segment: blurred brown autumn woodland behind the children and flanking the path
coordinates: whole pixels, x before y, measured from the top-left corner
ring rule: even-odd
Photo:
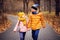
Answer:
[[[44,13],[46,21],[59,33],[60,0],[0,0],[0,29],[6,28],[8,26],[7,23],[10,25],[6,14],[17,14],[19,11],[29,14],[31,6],[35,3],[40,4],[38,7],[39,11]]]

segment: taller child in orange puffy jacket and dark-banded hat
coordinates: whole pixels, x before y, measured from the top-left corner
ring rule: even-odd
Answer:
[[[29,15],[28,28],[32,29],[32,38],[37,40],[39,29],[42,27],[45,28],[45,20],[42,13],[37,12],[38,4],[35,4],[31,7],[32,13]]]

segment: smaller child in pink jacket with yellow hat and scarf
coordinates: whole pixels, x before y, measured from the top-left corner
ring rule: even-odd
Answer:
[[[20,34],[20,40],[25,39],[25,34],[27,31],[27,17],[24,14],[24,12],[19,12],[18,13],[18,22],[16,24],[16,27],[14,28],[14,32],[17,31],[17,28],[19,29],[19,34]]]

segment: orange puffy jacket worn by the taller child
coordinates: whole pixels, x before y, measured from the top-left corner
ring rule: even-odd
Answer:
[[[30,14],[28,28],[31,28],[32,30],[37,30],[42,27],[45,27],[45,20],[42,13]]]

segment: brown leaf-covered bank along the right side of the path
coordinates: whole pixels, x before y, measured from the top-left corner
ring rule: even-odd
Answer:
[[[55,16],[55,12],[51,13],[44,13],[44,17],[46,18],[46,21],[49,25],[52,26],[54,31],[58,34],[60,34],[60,16]]]

